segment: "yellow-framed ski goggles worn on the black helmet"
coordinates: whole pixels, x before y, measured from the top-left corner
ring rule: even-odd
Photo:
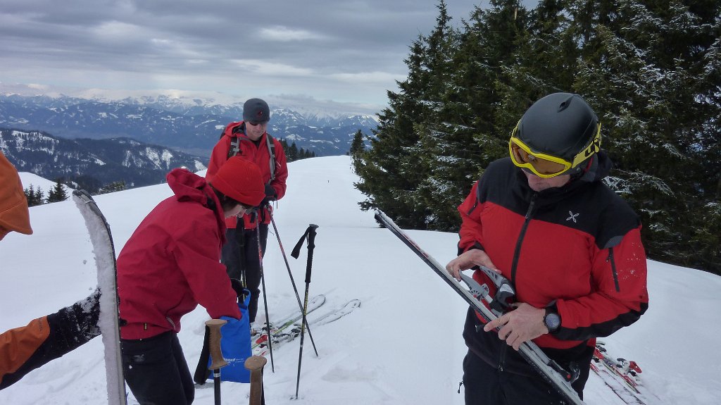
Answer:
[[[508,141],[510,159],[516,166],[528,169],[538,177],[547,179],[564,174],[570,169],[582,164],[583,161],[588,159],[593,153],[601,151],[601,123],[598,123],[598,129],[596,130],[596,135],[593,136],[593,140],[590,141],[588,146],[583,148],[583,151],[580,151],[580,153],[573,158],[573,161],[567,161],[566,159],[552,156],[548,153],[532,151],[526,143],[523,143],[523,141],[516,137],[518,125],[520,124],[521,122],[519,121],[518,124],[516,124],[516,128],[513,128],[513,133],[510,134],[510,141]]]

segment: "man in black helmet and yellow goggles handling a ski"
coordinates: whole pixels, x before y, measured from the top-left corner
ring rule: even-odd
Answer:
[[[459,257],[446,265],[456,278],[490,267],[516,287],[513,311],[488,324],[469,310],[466,404],[563,403],[518,354],[529,340],[580,370],[572,386],[583,399],[596,337],[648,307],[641,223],[602,182],[611,162],[601,151],[601,124],[577,94],[531,105],[508,147],[510,157],[492,162],[459,205]],[[492,285],[479,270],[473,277]]]

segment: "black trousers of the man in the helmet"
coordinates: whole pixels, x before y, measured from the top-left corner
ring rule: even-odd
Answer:
[[[500,371],[470,350],[463,360],[463,386],[466,405],[567,405],[540,375]]]

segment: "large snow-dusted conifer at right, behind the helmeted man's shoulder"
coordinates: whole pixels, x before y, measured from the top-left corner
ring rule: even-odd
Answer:
[[[694,218],[708,212],[706,190],[718,178],[704,177],[718,108],[699,102],[709,83],[698,78],[718,37],[709,27],[720,6],[686,4],[616,1],[613,14],[593,13],[590,24],[578,19],[572,27],[582,44],[575,89],[600,115],[602,145],[616,164],[609,182],[640,213],[650,257],[678,264],[697,256],[684,241]],[[575,1],[571,14],[589,7]]]

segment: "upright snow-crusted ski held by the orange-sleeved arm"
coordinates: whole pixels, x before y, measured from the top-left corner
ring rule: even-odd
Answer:
[[[105,345],[107,400],[110,405],[126,405],[123,361],[120,357],[120,316],[118,313],[118,273],[115,267],[115,246],[110,225],[95,200],[84,190],[75,190],[73,200],[85,220],[95,254],[97,281],[100,287],[100,319],[98,326]]]

